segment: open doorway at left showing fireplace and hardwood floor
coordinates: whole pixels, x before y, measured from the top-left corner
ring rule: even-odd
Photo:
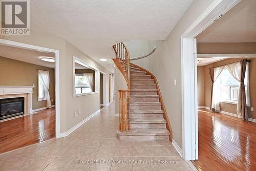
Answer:
[[[0,153],[55,138],[55,53],[2,44],[0,73]]]

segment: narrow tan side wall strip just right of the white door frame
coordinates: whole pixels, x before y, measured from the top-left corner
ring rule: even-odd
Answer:
[[[204,106],[204,67],[197,67],[198,106]]]

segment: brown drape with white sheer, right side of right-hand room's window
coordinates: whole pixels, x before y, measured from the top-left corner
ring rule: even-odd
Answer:
[[[247,60],[242,59],[240,62],[232,63],[227,65],[229,73],[233,76],[234,79],[240,82],[239,93],[238,93],[238,105],[237,113],[242,116],[242,119],[248,119],[248,111],[246,104],[246,95],[245,95],[245,86],[244,78],[246,73]]]

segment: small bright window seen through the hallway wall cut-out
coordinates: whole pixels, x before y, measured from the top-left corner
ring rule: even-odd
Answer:
[[[93,77],[92,73],[89,74],[91,75],[89,77]],[[92,92],[90,84],[86,78],[89,74],[75,74],[75,94]]]

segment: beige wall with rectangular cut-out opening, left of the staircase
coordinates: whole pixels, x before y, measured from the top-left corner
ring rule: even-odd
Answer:
[[[109,75],[109,71],[96,61],[79,51],[62,38],[30,32],[29,36],[0,36],[0,38],[23,42],[25,44],[59,50],[60,67],[60,132],[66,132],[77,123],[99,110],[99,93],[73,97],[73,55],[84,60]],[[109,77],[106,78],[107,96],[109,96]],[[81,115],[74,117],[74,112],[81,110]]]

